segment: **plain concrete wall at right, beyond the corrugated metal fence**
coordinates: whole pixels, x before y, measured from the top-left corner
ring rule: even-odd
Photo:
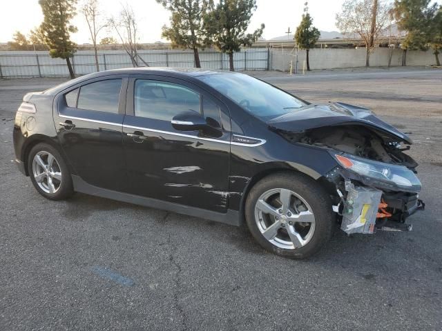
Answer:
[[[302,70],[302,62],[305,60],[305,50],[298,54],[298,70]],[[396,49],[392,55],[392,66],[401,66],[403,50]],[[310,50],[311,69],[333,69],[333,68],[357,68],[365,66],[365,48],[359,49],[334,49],[314,48]],[[442,59],[441,59],[442,60]],[[295,66],[296,57],[294,53],[287,50],[272,49],[270,54],[271,70],[288,71],[289,63],[293,61]],[[407,66],[430,66],[436,63],[431,50],[422,52],[411,50],[407,52]],[[388,48],[377,48],[370,54],[370,66],[381,67],[388,65]]]

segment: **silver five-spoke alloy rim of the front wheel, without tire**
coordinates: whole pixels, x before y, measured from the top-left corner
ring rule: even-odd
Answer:
[[[284,188],[261,194],[255,205],[255,221],[267,241],[286,250],[307,245],[315,231],[314,213],[307,201]]]

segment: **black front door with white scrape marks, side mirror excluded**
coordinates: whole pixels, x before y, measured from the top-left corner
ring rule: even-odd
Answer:
[[[185,110],[201,112],[213,132],[183,132],[171,125]],[[230,134],[228,110],[187,81],[140,76],[129,81],[123,146],[126,192],[216,212],[227,211]]]

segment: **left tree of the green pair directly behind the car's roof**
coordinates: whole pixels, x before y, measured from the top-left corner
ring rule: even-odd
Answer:
[[[203,17],[213,8],[213,0],[157,0],[172,12],[171,26],[163,26],[162,37],[172,48],[193,50],[195,67],[201,68],[198,48],[204,47]]]

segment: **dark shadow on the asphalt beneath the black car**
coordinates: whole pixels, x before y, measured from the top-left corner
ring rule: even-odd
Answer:
[[[166,212],[164,210],[157,210],[155,208],[147,208],[131,203],[124,203],[104,199],[100,197],[93,197],[87,194],[76,193],[74,197],[65,201],[65,206],[62,208],[61,214],[68,221],[86,220],[91,214],[97,212],[113,212],[116,210],[130,210],[130,212],[140,212],[150,214],[148,220],[143,222],[154,222],[156,225],[165,225],[167,222],[172,222],[179,225],[180,229],[188,232],[189,236],[192,234],[210,237],[213,241],[221,241],[228,245],[233,245],[236,249],[249,256],[265,256],[266,260],[289,261],[285,258],[278,257],[266,250],[262,249],[251,236],[247,225],[242,224],[240,227],[227,225],[208,221],[196,217],[189,217],[186,215],[175,214],[173,212]],[[155,211],[155,212],[153,212]],[[372,235],[352,235],[348,237],[344,232],[336,228],[332,235],[332,239],[325,244],[320,252],[305,261],[298,261],[298,263],[324,263],[327,261],[334,261],[342,265],[358,265],[361,263],[361,257],[370,257],[376,254],[379,259],[383,259],[383,254],[388,254],[384,259],[390,259],[393,248],[398,249],[398,245],[404,245],[400,251],[407,250],[406,243],[410,243],[413,239],[407,237],[405,232],[377,232]],[[152,230],[152,229],[150,229]],[[213,235],[213,234],[216,235]],[[192,240],[189,237],[189,240]],[[390,249],[389,249],[390,247]]]

